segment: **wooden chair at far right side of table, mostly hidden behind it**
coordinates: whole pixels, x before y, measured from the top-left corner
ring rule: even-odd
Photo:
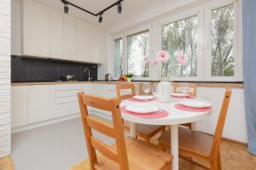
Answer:
[[[183,93],[181,92],[178,88],[181,88],[184,86],[184,83],[183,82],[173,82],[173,93]],[[196,90],[197,90],[197,85],[196,83],[191,83],[191,82],[188,82],[186,83],[186,87],[189,87],[190,89],[192,89],[192,91],[189,91],[189,95],[190,96],[194,96],[196,97]],[[189,127],[189,129],[191,129],[192,127],[192,124],[191,123],[184,123],[182,124],[182,126],[184,127]]]

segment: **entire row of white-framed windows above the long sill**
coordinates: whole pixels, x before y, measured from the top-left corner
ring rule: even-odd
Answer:
[[[115,75],[121,74],[122,65],[123,73],[133,73],[137,80],[159,80],[144,56],[153,59],[163,49],[170,60],[162,76],[172,81],[239,82],[241,33],[241,0],[201,3],[114,39]]]

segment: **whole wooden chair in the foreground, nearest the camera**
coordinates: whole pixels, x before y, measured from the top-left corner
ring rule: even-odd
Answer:
[[[162,170],[171,168],[172,156],[170,154],[156,146],[146,144],[142,140],[130,137],[125,139],[119,99],[106,99],[83,92],[79,93],[78,97],[91,170]],[[112,114],[113,124],[89,116],[87,106],[109,111]],[[111,146],[97,139],[93,136],[91,128],[115,139],[116,144]],[[100,154],[96,154],[96,150]],[[85,170],[84,162],[71,169]]]

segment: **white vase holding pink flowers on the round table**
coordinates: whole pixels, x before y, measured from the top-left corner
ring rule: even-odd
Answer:
[[[159,101],[168,103],[171,102],[172,94],[172,83],[171,82],[160,82],[158,85],[159,90]]]

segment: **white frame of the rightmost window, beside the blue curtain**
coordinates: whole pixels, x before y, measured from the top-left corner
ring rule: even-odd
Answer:
[[[212,10],[216,8],[221,8],[234,3],[235,7],[235,42],[234,42],[234,59],[235,59],[235,70],[233,77],[212,77],[212,46],[211,46],[211,29],[212,29]],[[204,81],[206,82],[241,82],[242,78],[242,23],[241,23],[241,1],[238,0],[218,0],[207,3],[205,5],[204,14],[204,42],[206,45],[204,51]]]

